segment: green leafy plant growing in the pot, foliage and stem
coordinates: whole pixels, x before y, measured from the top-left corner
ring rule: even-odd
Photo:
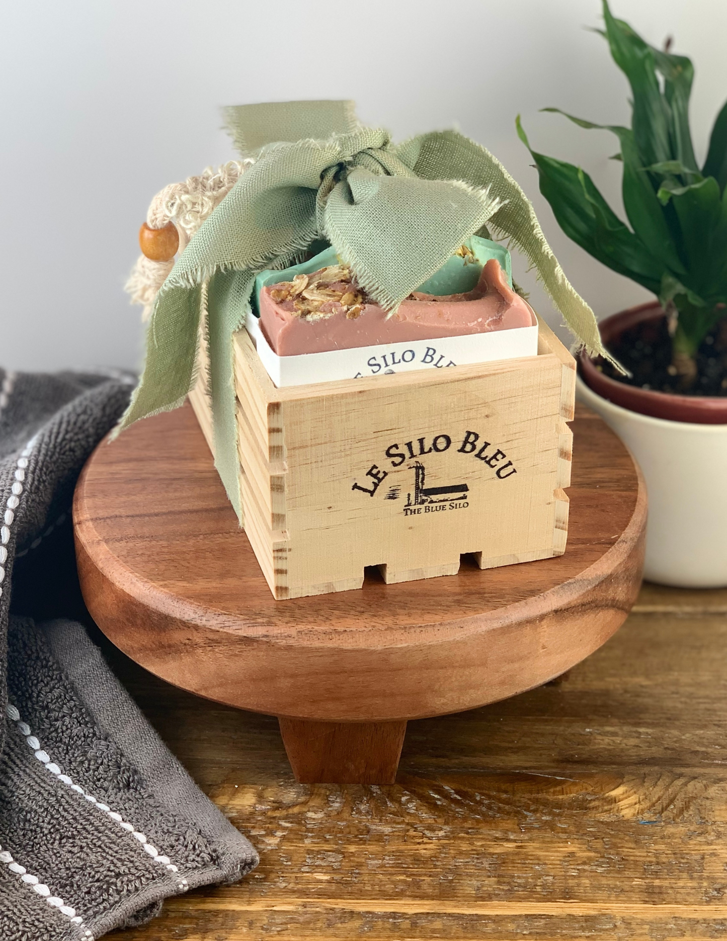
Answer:
[[[604,0],[611,56],[633,94],[631,127],[594,124],[554,111],[580,127],[619,138],[614,159],[623,165],[622,196],[629,226],[611,210],[580,167],[530,148],[541,193],[565,233],[603,262],[653,291],[667,313],[672,362],[686,384],[696,377],[695,354],[706,334],[727,314],[727,104],[698,167],[689,132],[688,104],[694,69],[644,42]]]

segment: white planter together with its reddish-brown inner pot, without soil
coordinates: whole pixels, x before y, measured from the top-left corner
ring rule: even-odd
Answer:
[[[599,324],[606,343],[664,316],[642,304]],[[577,396],[637,459],[649,521],[644,578],[683,588],[727,586],[727,398],[670,395],[609,378],[582,356]]]

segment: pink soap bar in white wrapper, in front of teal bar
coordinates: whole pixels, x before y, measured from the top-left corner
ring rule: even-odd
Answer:
[[[272,284],[260,292],[260,327],[278,356],[437,340],[537,324],[525,300],[509,287],[496,259],[484,265],[477,286],[467,294],[414,293],[388,318],[378,304],[365,298],[352,310],[333,300],[323,303],[313,314],[300,315],[294,300],[275,300],[271,296],[276,289],[280,295],[280,287]],[[331,284],[331,288],[346,291],[347,285]],[[350,290],[361,293],[355,286]]]

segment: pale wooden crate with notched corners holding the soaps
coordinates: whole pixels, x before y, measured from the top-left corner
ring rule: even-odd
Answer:
[[[275,598],[565,550],[575,362],[542,321],[535,357],[285,389],[233,342],[244,526]]]

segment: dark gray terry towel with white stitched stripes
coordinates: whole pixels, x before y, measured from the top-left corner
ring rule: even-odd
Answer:
[[[73,486],[132,382],[0,370],[2,941],[91,941],[257,863],[64,619]]]

